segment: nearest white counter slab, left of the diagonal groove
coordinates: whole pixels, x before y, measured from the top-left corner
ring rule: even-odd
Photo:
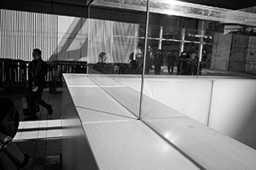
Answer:
[[[99,169],[198,169],[142,122],[84,123]]]

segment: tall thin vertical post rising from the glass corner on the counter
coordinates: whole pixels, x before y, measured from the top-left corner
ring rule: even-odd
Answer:
[[[142,113],[143,113],[143,88],[144,88],[144,72],[145,72],[145,66],[146,66],[147,41],[148,41],[148,16],[149,16],[149,0],[147,2],[146,31],[145,31],[145,42],[144,42],[144,54],[143,54],[143,73],[142,73],[142,86],[141,86],[138,120],[142,120]]]

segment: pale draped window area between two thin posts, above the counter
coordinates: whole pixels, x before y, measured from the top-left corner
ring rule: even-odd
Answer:
[[[89,27],[89,73],[140,73],[139,66],[142,65],[142,63],[135,64],[133,62],[133,60],[139,56],[139,54],[137,54],[137,47],[140,46],[137,37],[139,28],[137,24],[90,19]],[[143,56],[141,56],[141,60],[142,59]],[[132,69],[136,67],[136,71],[130,71],[131,65]]]

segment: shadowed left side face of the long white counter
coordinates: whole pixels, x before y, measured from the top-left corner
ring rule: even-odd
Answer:
[[[67,89],[67,82],[64,82],[62,92],[62,115],[64,118],[62,126],[66,127],[62,133],[67,136],[62,144],[62,168],[63,170],[79,170],[86,167],[86,169],[97,170],[98,168],[84,136],[78,111]],[[80,93],[80,95],[83,94]]]

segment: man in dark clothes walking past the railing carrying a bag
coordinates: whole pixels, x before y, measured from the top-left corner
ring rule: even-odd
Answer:
[[[47,74],[48,65],[42,59],[41,54],[42,52],[40,49],[33,49],[33,60],[28,68],[28,95],[30,105],[30,116],[26,117],[25,120],[34,120],[37,118],[37,103],[39,105],[43,105],[44,108],[47,109],[49,116],[51,116],[53,112],[51,105],[48,105],[42,99],[43,90],[45,88],[44,77]]]

